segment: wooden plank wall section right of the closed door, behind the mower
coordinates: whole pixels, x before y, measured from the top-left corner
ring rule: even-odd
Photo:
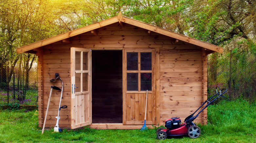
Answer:
[[[202,50],[173,44],[160,48],[160,124],[192,114],[202,103]],[[202,67],[203,66],[203,67]],[[206,97],[207,98],[207,97]],[[202,123],[202,114],[195,120]]]

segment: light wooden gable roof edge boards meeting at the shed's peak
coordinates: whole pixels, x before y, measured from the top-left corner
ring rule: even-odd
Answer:
[[[122,16],[121,12],[119,12],[119,14],[117,16],[109,18],[107,20],[100,21],[95,24],[87,25],[87,26],[84,26],[84,27],[81,27],[81,28],[78,28],[78,29],[54,36],[54,37],[51,37],[51,38],[48,38],[45,40],[37,41],[32,44],[17,48],[17,53],[18,54],[23,53],[23,52],[30,53],[31,50],[34,50],[36,48],[46,46],[46,45],[52,44],[54,42],[58,42],[58,41],[61,41],[61,40],[64,40],[64,39],[67,39],[70,37],[74,37],[74,36],[77,36],[77,35],[80,35],[80,34],[83,34],[83,33],[86,33],[86,32],[89,32],[89,31],[92,31],[92,30],[95,30],[95,29],[98,29],[98,28],[101,28],[104,26],[118,23],[118,22],[120,24],[122,24],[122,23],[131,24],[131,25],[134,25],[134,26],[137,26],[140,28],[144,28],[144,29],[177,39],[177,40],[185,41],[185,42],[200,46],[205,49],[209,49],[211,52],[207,52],[208,54],[213,53],[213,52],[219,52],[219,53],[223,52],[222,47],[219,47],[219,46],[216,46],[216,45],[213,45],[213,44],[201,41],[201,40],[197,40],[197,39],[194,39],[194,38],[191,38],[191,37],[179,34],[179,33],[175,33],[175,32],[172,32],[172,31],[169,31],[169,30],[166,30],[166,29],[163,29],[163,28],[151,25],[151,24],[147,24],[147,23],[144,23],[144,22],[132,19],[132,18]]]

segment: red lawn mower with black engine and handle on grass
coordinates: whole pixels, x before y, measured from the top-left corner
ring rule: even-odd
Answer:
[[[224,91],[224,92],[223,92]],[[224,97],[223,94],[227,92],[227,89],[222,89],[218,92],[218,88],[216,87],[216,94],[212,96],[210,99],[206,100],[193,114],[189,115],[185,120],[184,123],[181,124],[181,119],[179,117],[174,117],[171,119],[165,120],[165,127],[166,129],[159,128],[157,129],[157,138],[158,139],[165,139],[168,136],[178,136],[178,135],[188,135],[190,138],[197,138],[201,135],[200,128],[193,123],[193,121],[199,116],[199,114],[208,107],[212,102],[214,102],[219,97]],[[222,93],[223,92],[223,93]],[[217,97],[216,97],[217,96]],[[216,97],[215,99],[211,100],[212,98]],[[211,101],[210,101],[211,100]],[[198,112],[196,116],[194,114],[207,102],[207,105],[203,107],[201,111]]]

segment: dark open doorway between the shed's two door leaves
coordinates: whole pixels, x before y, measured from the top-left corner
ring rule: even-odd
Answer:
[[[122,51],[92,51],[92,123],[122,123]]]

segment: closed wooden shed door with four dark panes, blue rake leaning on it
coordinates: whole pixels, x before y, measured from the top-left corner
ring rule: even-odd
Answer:
[[[123,50],[123,124],[155,124],[155,49]]]

